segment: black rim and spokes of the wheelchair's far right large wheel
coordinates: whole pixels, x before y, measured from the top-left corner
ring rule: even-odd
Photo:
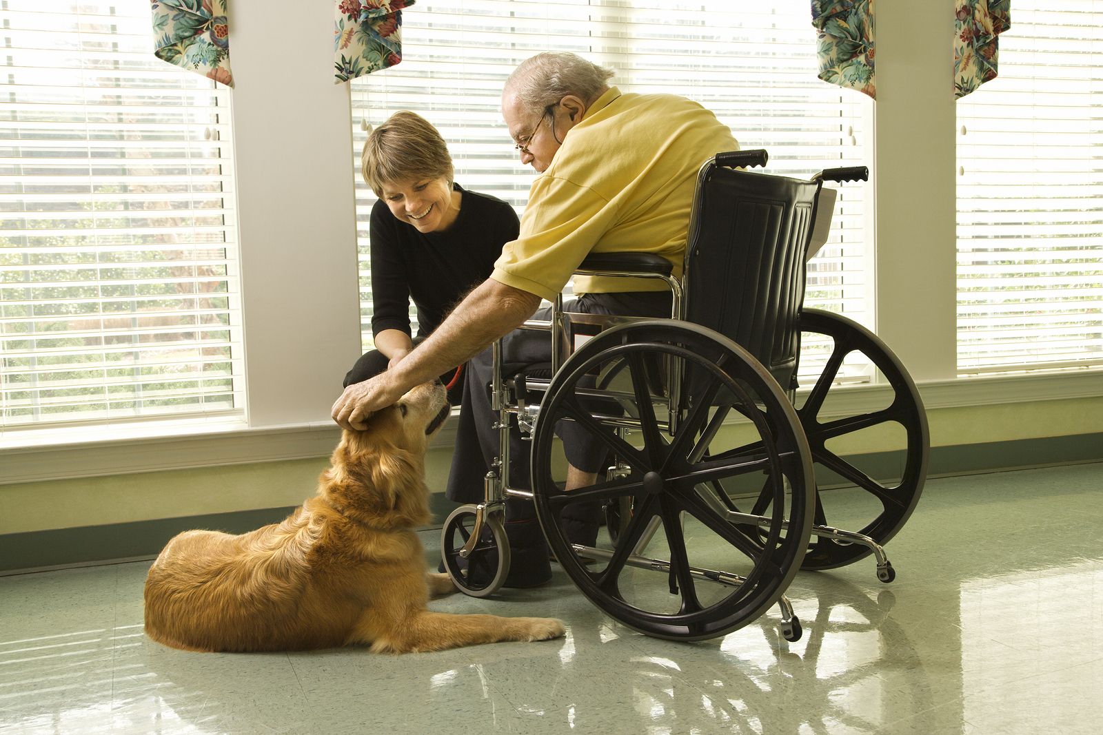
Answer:
[[[854,482],[855,485],[874,495],[881,501],[881,512],[870,520],[858,532],[870,537],[878,544],[887,543],[907,522],[923,490],[927,478],[927,464],[930,457],[930,434],[927,425],[927,413],[914,381],[903,367],[900,359],[889,349],[877,335],[857,322],[833,312],[817,309],[805,309],[801,312],[801,332],[823,334],[834,341],[832,355],[824,371],[797,409],[804,435],[812,450],[814,464],[827,467]],[[859,352],[880,370],[888,385],[892,388],[893,398],[888,408],[872,413],[834,419],[824,423],[816,414],[829,394],[832,385],[843,359],[852,352]],[[882,419],[884,421],[880,421]],[[848,424],[853,431],[860,431],[869,425],[882,422],[896,422],[907,432],[908,446],[901,479],[893,486],[887,486],[869,478],[857,467],[838,457],[825,447],[828,439],[845,436],[849,431],[840,431]],[[842,469],[843,472],[838,472]],[[816,495],[817,525],[827,525],[820,494]],[[865,545],[840,544],[834,539],[818,537],[804,558],[802,569],[827,570],[852,564],[865,559],[872,551]],[[891,568],[890,568],[891,570]],[[890,572],[895,576],[895,572]],[[879,575],[881,581],[885,576]]]

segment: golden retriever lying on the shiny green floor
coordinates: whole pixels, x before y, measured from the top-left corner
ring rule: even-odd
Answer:
[[[426,608],[430,594],[456,592],[426,570],[414,531],[429,520],[425,452],[447,417],[440,381],[419,386],[344,432],[318,495],[283,522],[173,538],[146,579],[146,634],[193,651],[389,652],[564,635],[552,618]]]

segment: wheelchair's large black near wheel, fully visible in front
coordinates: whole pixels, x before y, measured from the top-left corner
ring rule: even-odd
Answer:
[[[672,392],[683,407],[673,431]],[[566,491],[564,445],[603,446],[607,462],[631,472]],[[532,472],[563,569],[598,607],[650,636],[713,638],[757,619],[807,548],[815,490],[793,407],[746,350],[686,322],[624,324],[571,355],[542,403]],[[763,477],[772,504],[760,522],[718,497],[758,493]],[[557,522],[565,507],[620,498],[632,504],[615,542],[569,543]]]

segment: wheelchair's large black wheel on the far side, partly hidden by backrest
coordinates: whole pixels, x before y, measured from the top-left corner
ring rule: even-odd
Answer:
[[[823,485],[853,484],[856,490],[824,490],[817,494],[817,525],[864,533],[886,543],[911,516],[927,478],[930,437],[927,412],[911,376],[877,335],[860,324],[813,309],[801,314],[802,343],[824,344],[829,350],[824,368],[812,389],[799,401],[797,414],[816,465],[816,480]],[[825,341],[824,337],[829,339]],[[844,364],[872,366],[885,376],[889,390],[868,409],[837,415],[832,409],[832,389],[838,386]],[[804,380],[802,380],[804,382]],[[822,419],[826,415],[826,419]],[[890,437],[904,446],[902,461],[878,465],[877,458],[843,458],[840,454],[861,432],[872,440]],[[865,463],[865,464],[864,464]],[[888,479],[886,479],[888,478]],[[816,538],[804,556],[804,569],[823,570],[850,564],[871,553],[868,547]]]

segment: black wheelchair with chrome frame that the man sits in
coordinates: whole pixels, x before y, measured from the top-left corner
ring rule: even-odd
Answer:
[[[461,591],[484,597],[505,580],[507,496],[534,502],[548,547],[583,595],[658,638],[722,636],[778,605],[782,636],[799,640],[784,593],[800,570],[872,554],[878,579],[895,579],[884,545],[923,488],[922,401],[874,333],[803,307],[821,187],[866,181],[868,171],[829,169],[803,181],[748,170],[767,160],[762,150],[736,151],[702,166],[681,277],[645,253],[591,253],[576,271],[662,279],[672,291],[670,320],[565,313],[560,296],[550,321],[524,325],[550,333],[550,366],[503,376],[502,343],[493,345],[501,454],[485,499],[454,510],[441,532],[445,568]],[[799,392],[802,339],[826,357]],[[844,364],[879,372],[887,403],[858,415],[825,408],[845,391]],[[511,487],[514,425],[532,442],[532,490]],[[564,426],[607,450],[608,471],[591,485],[565,487],[556,437]],[[843,456],[847,437],[890,426],[906,451],[889,480]],[[827,525],[826,500],[840,490],[817,489],[817,476],[850,488],[858,501],[844,516],[859,530]],[[593,547],[571,543],[559,523],[580,502],[603,507],[606,532]]]

